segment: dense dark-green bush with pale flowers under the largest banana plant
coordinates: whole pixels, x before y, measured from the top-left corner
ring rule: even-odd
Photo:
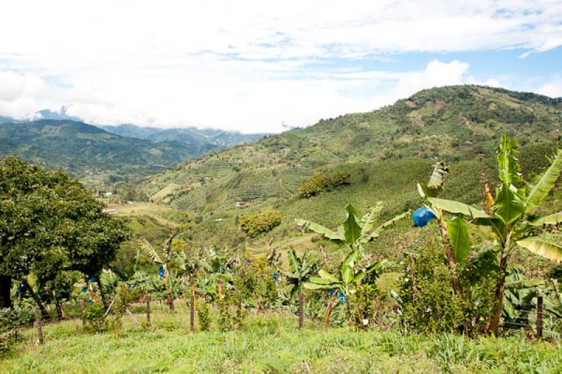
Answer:
[[[485,251],[457,267],[461,297],[452,288],[453,273],[442,247],[425,247],[410,254],[400,292],[405,325],[425,333],[480,332],[493,305],[495,261]]]

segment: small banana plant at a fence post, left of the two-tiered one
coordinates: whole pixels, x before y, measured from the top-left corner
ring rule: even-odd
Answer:
[[[294,299],[295,294],[299,297],[299,328],[303,328],[304,299],[301,286],[318,271],[318,261],[311,258],[310,252],[304,252],[302,257],[299,257],[290,245],[287,257],[289,257],[289,271],[284,273],[288,282],[293,285],[291,298]]]

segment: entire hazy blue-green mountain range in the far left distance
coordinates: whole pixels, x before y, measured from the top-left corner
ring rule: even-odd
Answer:
[[[41,110],[42,120],[0,117],[0,158],[18,155],[64,169],[89,186],[137,179],[259,134],[221,130],[155,129],[124,124],[96,127],[60,112]]]

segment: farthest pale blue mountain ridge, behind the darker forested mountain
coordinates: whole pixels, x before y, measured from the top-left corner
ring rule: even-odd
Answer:
[[[197,129],[185,127],[181,129],[157,129],[155,127],[139,127],[134,124],[120,124],[119,126],[102,126],[105,131],[131,138],[141,138],[162,143],[177,141],[187,145],[197,153],[205,153],[216,148],[236,146],[237,144],[254,141],[266,134],[242,134],[238,131],[223,131],[218,129]]]

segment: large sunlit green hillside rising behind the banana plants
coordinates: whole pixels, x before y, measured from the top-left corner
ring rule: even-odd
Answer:
[[[384,200],[386,217],[417,207],[415,184],[427,179],[433,157],[451,164],[445,194],[478,203],[481,172],[494,180],[491,156],[502,133],[518,139],[522,161],[536,169],[556,146],[551,142],[561,139],[561,127],[561,99],[450,86],[421,91],[373,112],[320,120],[306,129],[216,151],[153,176],[139,188],[155,202],[200,216],[200,224],[185,238],[261,247],[271,239],[298,236],[292,223],[296,217],[336,226],[347,202],[365,212]],[[303,181],[335,170],[349,172],[351,185],[299,198]],[[247,207],[237,207],[237,202]],[[266,207],[282,212],[282,224],[248,241],[237,230],[237,219]],[[410,226],[405,222],[399,231]]]

